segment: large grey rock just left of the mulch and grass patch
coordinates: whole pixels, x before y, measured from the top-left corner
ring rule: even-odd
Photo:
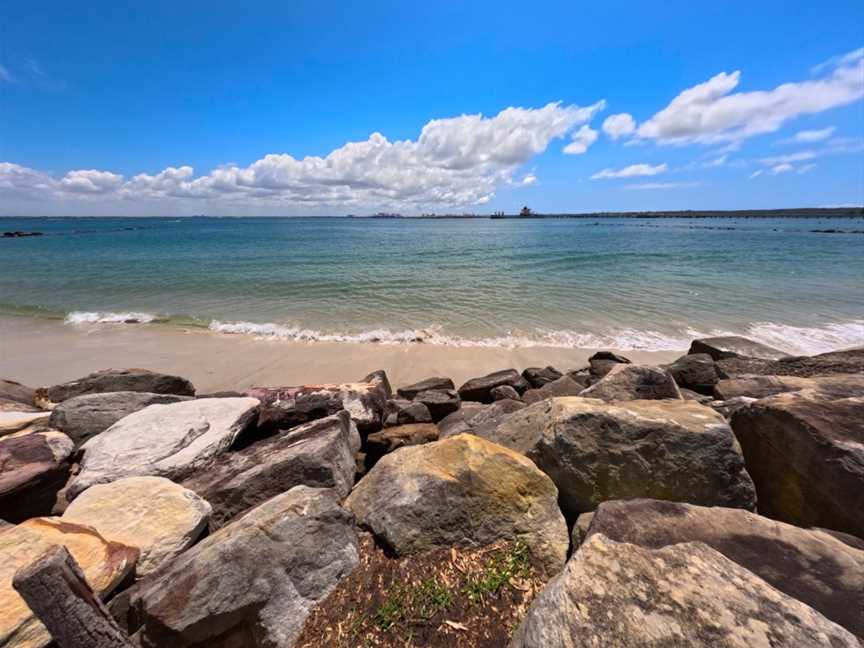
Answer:
[[[351,515],[330,491],[296,486],[143,581],[127,621],[151,648],[293,646],[357,557]]]

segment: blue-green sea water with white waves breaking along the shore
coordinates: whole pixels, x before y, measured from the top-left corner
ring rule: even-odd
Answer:
[[[841,230],[842,233],[813,230]],[[864,344],[861,219],[0,219],[0,315],[302,340]],[[858,233],[852,233],[857,231]]]

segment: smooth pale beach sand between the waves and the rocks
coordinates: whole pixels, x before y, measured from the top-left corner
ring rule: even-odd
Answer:
[[[499,369],[587,364],[597,349],[465,348],[428,344],[296,342],[218,334],[167,325],[67,325],[0,318],[0,377],[32,387],[73,380],[99,369],[139,367],[190,379],[198,393],[359,380],[385,369],[394,388],[429,376],[457,386]],[[614,349],[612,349],[614,350]],[[679,351],[621,351],[656,364]]]

